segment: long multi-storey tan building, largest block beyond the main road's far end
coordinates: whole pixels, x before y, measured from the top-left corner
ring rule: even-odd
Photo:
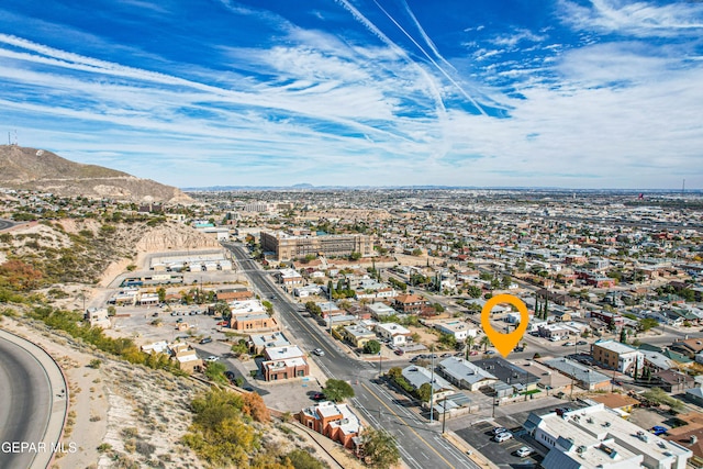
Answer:
[[[359,253],[361,257],[368,257],[373,254],[371,237],[361,234],[297,236],[283,232],[261,232],[261,248],[265,253],[271,253],[278,261],[308,255],[348,256]]]

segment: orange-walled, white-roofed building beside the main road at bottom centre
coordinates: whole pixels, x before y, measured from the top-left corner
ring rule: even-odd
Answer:
[[[345,448],[354,449],[361,434],[361,421],[347,404],[320,402],[298,414],[301,424],[327,438],[338,442]]]

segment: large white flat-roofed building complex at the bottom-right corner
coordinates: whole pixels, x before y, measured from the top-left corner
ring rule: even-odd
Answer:
[[[538,416],[525,429],[549,453],[545,469],[685,469],[691,450],[620,417],[603,404]]]

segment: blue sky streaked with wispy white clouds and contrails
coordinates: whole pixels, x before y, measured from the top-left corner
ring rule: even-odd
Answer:
[[[3,0],[0,122],[178,187],[703,188],[703,1]]]

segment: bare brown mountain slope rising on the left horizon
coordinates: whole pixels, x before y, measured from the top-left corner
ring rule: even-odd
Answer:
[[[57,196],[105,197],[133,202],[192,202],[180,189],[96,165],[69,161],[44,149],[0,145],[0,187]]]

